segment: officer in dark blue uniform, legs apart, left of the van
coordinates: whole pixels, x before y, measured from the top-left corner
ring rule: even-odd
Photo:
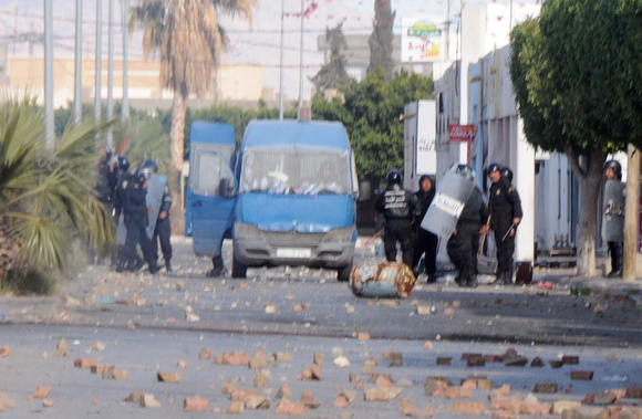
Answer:
[[[126,176],[123,176],[126,175]],[[118,197],[122,201],[122,211],[125,219],[127,235],[125,244],[118,252],[117,272],[133,270],[132,265],[136,259],[136,245],[141,244],[143,256],[149,265],[149,272],[159,270],[156,263],[156,254],[152,249],[152,243],[147,237],[147,190],[144,188],[145,176],[124,172],[121,175]]]

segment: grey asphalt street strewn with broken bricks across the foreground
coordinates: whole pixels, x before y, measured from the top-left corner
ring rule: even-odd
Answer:
[[[283,385],[292,386],[293,401],[303,390],[312,390],[321,405],[303,416],[320,418],[402,417],[407,404],[429,407],[434,417],[466,417],[454,406],[462,400],[480,401],[484,413],[490,415],[487,390],[473,390],[469,398],[428,397],[423,387],[427,377],[447,378],[453,386],[468,376],[487,377],[495,389],[510,385],[510,397],[521,399],[537,383],[557,384],[557,392],[536,395],[540,402],[579,401],[588,392],[642,387],[638,283],[576,280],[568,270],[539,269],[536,280],[553,282],[552,290],[535,285],[468,290],[443,276],[437,285],[417,283],[407,300],[359,298],[331,271],[251,269],[247,280],[208,277],[209,260],[195,258],[187,239],[174,238],[174,243],[177,269],[169,275],[121,275],[96,265],[70,280],[59,295],[0,297],[6,316],[0,322],[0,348],[10,347],[10,354],[0,357],[0,392],[17,405],[6,408],[4,416],[196,417],[182,412],[184,399],[196,395],[208,399],[208,411],[220,413],[231,405],[221,391],[228,380],[270,399],[270,409],[246,410],[241,417],[247,418],[277,416],[276,394]],[[227,266],[230,250],[227,243]],[[371,248],[359,247],[358,263],[377,260]],[[587,295],[570,295],[571,286]],[[53,355],[62,337],[68,347],[63,358]],[[91,349],[96,342],[105,345],[104,350]],[[509,348],[528,364],[488,362],[473,367],[462,359],[463,354],[498,358]],[[199,358],[203,349],[211,357]],[[267,387],[255,388],[256,370],[213,362],[226,352],[252,357],[259,350],[268,357],[291,355],[291,360],[263,368],[270,371]],[[324,358],[322,379],[298,380],[315,353]],[[349,367],[332,365],[339,353],[349,359]],[[384,359],[387,353],[402,354],[401,366],[391,367],[393,362]],[[578,356],[579,364],[549,365],[562,356]],[[364,400],[364,391],[377,387],[367,383],[373,371],[362,370],[369,357],[379,363],[375,374],[391,375],[402,389],[396,398]],[[452,363],[437,365],[437,357],[451,357]],[[541,368],[529,366],[535,357],[542,359]],[[102,379],[74,368],[76,358],[126,369],[128,378]],[[177,366],[179,360],[186,362],[184,368]],[[573,370],[594,375],[592,380],[571,379]],[[156,374],[162,371],[180,371],[183,380],[158,383]],[[362,388],[349,381],[350,373],[359,376]],[[51,387],[46,400],[53,406],[29,401],[39,386]],[[162,408],[124,402],[132,391],[153,394]],[[345,408],[334,407],[341,391],[356,391]],[[621,404],[638,401],[624,398]]]

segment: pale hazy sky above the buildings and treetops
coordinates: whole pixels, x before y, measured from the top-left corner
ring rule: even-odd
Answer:
[[[103,53],[107,51],[107,11],[108,1],[103,3]],[[275,93],[279,88],[279,51],[281,32],[281,1],[259,0],[259,8],[253,13],[253,24],[250,28],[247,22],[222,18],[221,24],[228,31],[230,49],[226,60],[236,63],[262,64],[263,86],[273,87]],[[309,76],[313,76],[323,62],[323,55],[317,52],[317,36],[325,33],[325,28],[334,28],[343,22],[344,34],[370,34],[374,18],[374,0],[304,0],[304,8],[311,2],[318,4],[317,9],[304,19],[303,23],[303,64],[304,86],[303,97],[309,98],[311,83]],[[401,31],[401,18],[417,14],[446,14],[448,0],[390,0],[392,9],[396,11],[394,32]],[[113,0],[114,21],[121,22],[121,0]],[[131,4],[135,0],[130,0]],[[449,0],[451,15],[456,18],[462,2]],[[467,0],[464,4],[483,4],[495,2],[494,0]],[[508,3],[509,1],[498,1]],[[515,1],[514,7],[520,3],[535,3],[535,0]],[[301,20],[296,14],[301,10],[301,0],[284,0],[283,21],[283,62],[284,62],[284,92],[290,98],[299,96],[299,64]],[[54,55],[72,56],[74,51],[74,19],[75,0],[53,0],[54,15]],[[83,53],[86,57],[94,56],[95,50],[95,22],[96,0],[83,0]],[[14,43],[15,34],[28,32],[43,33],[43,0],[0,0],[0,40],[8,44],[9,54],[27,55],[28,42]],[[122,31],[115,28],[115,54],[122,55]],[[136,30],[131,41],[130,56],[142,59],[141,46],[142,30]],[[33,44],[33,54],[42,56],[42,44]]]

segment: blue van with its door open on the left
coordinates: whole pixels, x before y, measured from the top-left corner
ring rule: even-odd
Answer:
[[[186,233],[215,271],[231,238],[232,277],[306,265],[349,280],[359,182],[342,124],[252,121],[237,156],[231,126],[195,122],[190,145]]]

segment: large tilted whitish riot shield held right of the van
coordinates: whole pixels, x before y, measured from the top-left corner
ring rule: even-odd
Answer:
[[[475,188],[473,180],[448,170],[437,186],[435,198],[422,220],[421,228],[446,240],[453,234],[464,205]]]

